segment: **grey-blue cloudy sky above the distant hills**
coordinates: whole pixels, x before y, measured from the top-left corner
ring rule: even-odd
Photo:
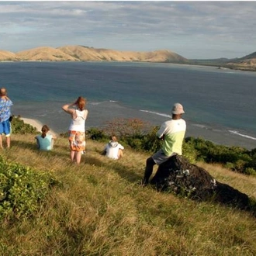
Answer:
[[[244,57],[256,51],[256,1],[0,1],[0,50],[67,45]]]

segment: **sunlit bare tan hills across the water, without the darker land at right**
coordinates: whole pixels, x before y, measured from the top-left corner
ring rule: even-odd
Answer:
[[[170,50],[133,52],[85,46],[37,47],[16,54],[0,51],[0,61],[142,61],[189,64],[185,57]]]

